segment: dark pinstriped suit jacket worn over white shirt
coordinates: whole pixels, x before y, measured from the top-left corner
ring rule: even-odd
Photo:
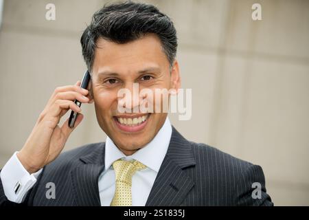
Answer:
[[[98,177],[104,170],[104,143],[62,153],[43,169],[21,206],[100,206]],[[47,199],[46,184],[56,185],[56,199]],[[262,185],[253,199],[252,184]],[[0,205],[6,199],[0,181]],[[205,144],[189,142],[172,128],[168,152],[146,206],[273,206],[266,194],[262,168]]]

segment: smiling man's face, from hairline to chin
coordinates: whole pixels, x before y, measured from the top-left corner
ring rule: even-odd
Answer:
[[[155,111],[155,107],[154,113],[136,113],[136,110],[133,113],[143,99],[148,106],[158,104],[155,103],[155,95],[152,100],[148,100],[147,96],[133,96],[133,83],[138,83],[139,91],[150,89],[154,94],[155,89],[177,90],[180,86],[178,63],[175,61],[170,69],[168,58],[155,34],[147,34],[125,44],[98,39],[97,45],[91,88],[97,120],[117,147],[126,155],[132,155],[157,135],[168,114],[162,113],[162,109]],[[118,96],[119,89],[128,89],[132,94],[130,106],[125,101],[128,96]],[[130,109],[131,113],[120,113],[118,104]]]

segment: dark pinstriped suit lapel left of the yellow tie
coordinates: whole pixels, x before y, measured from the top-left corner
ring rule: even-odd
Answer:
[[[98,179],[104,170],[105,144],[91,148],[80,157],[80,164],[71,170],[73,192],[78,206],[101,206]]]

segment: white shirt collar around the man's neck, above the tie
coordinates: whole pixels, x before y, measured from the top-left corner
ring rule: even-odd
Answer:
[[[120,151],[114,144],[110,137],[106,137],[105,142],[105,168],[107,170],[111,167],[113,162],[117,159],[124,158],[126,160],[136,159],[148,168],[159,172],[159,168],[163,162],[166,152],[168,151],[168,145],[170,144],[170,138],[172,137],[172,125],[168,117],[157,135],[143,148],[139,149],[133,155],[126,156]],[[155,155],[155,156],[154,156]]]

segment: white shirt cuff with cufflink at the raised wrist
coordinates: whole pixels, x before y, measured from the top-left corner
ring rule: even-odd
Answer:
[[[38,175],[41,174],[43,168],[30,175],[19,161],[16,153],[18,152],[16,151],[14,155],[12,155],[1,170],[0,178],[4,194],[8,200],[21,203],[25,195],[27,195],[27,192],[36,183]]]

